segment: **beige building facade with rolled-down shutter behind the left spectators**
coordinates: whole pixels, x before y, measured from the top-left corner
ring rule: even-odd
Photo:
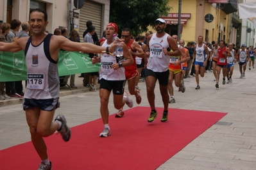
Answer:
[[[80,10],[75,8],[74,0],[1,0],[0,20],[10,23],[13,19],[19,19],[26,22],[29,20],[30,8],[47,12],[49,24],[46,30],[49,33],[53,33],[57,27],[68,27],[69,30],[75,27],[82,40],[87,20],[92,20],[96,32],[101,36],[108,24],[110,0],[86,0]]]

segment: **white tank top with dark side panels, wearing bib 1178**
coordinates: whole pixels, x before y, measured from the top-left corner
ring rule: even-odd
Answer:
[[[32,36],[26,43],[27,86],[24,98],[59,97],[58,61],[54,61],[49,52],[51,36],[48,34],[37,46],[32,45]]]

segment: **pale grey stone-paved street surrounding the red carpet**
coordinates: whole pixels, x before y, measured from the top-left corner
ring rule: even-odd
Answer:
[[[196,88],[194,77],[184,79],[185,93],[178,92],[178,88],[175,88],[176,103],[169,104],[169,107],[228,112],[228,114],[158,167],[158,170],[256,169],[255,73],[256,68],[248,70],[247,66],[245,78],[240,79],[239,66],[235,64],[233,82],[223,85],[221,73],[219,89],[215,88],[216,82],[212,72],[205,73],[203,78],[200,77],[199,90],[194,89]],[[70,127],[101,118],[98,91],[89,91],[83,87],[82,78],[78,78],[78,75],[75,82],[78,89],[60,90],[60,108],[56,110],[56,114],[62,113],[66,116]],[[142,96],[141,105],[149,106],[145,82],[141,81],[139,87]],[[158,82],[155,94],[156,107],[163,107]],[[135,97],[133,99],[135,100]],[[0,102],[0,150],[30,141],[30,132],[21,102],[20,99]],[[137,104],[135,103],[134,106]],[[128,107],[125,106],[124,109]],[[109,110],[110,114],[116,112],[112,95]],[[157,119],[160,121],[160,118]],[[114,137],[114,134],[110,137]]]

